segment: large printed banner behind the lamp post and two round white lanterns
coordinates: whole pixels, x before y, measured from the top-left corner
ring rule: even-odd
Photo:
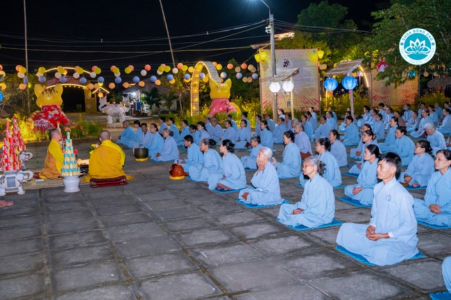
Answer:
[[[270,51],[265,60],[260,60],[260,94],[262,97],[262,108],[273,107],[274,94],[269,89],[273,82],[273,73],[271,71]],[[319,108],[319,84],[318,84],[318,55],[316,49],[276,49],[275,50],[276,71],[280,73],[286,69],[299,69],[299,73],[293,76],[294,85],[293,99],[290,99],[290,93],[285,93],[282,87],[278,92],[278,108],[290,112],[291,103],[294,109],[305,111],[313,106],[316,110]],[[283,82],[279,82],[282,85]]]

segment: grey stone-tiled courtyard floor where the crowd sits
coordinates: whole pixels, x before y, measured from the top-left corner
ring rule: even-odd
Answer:
[[[30,168],[42,166],[45,148],[29,148]],[[293,231],[275,222],[278,206],[248,209],[238,193],[169,179],[170,166],[128,156],[135,180],[127,186],[82,185],[74,194],[26,186],[25,195],[3,197],[15,205],[0,209],[0,299],[429,299],[445,290],[450,229],[419,226],[425,258],[370,267],[337,252],[339,227]],[[250,182],[253,171],[246,174]],[[343,184],[355,180],[343,175]],[[300,200],[297,183],[281,180],[282,197]],[[366,223],[370,212],[336,202],[343,222]]]

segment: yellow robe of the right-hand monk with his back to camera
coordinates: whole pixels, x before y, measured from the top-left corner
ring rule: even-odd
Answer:
[[[94,149],[90,158],[90,170],[85,181],[93,179],[110,179],[126,176],[128,180],[133,176],[127,176],[122,170],[126,162],[126,155],[119,145],[110,140],[103,141],[99,147]]]

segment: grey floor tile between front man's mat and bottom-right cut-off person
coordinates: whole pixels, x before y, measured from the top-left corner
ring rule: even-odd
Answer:
[[[427,272],[418,272],[427,270]],[[381,267],[381,271],[390,274],[395,279],[407,282],[422,292],[439,292],[445,289],[443,281],[437,280],[441,274],[441,262],[409,261],[390,267]]]

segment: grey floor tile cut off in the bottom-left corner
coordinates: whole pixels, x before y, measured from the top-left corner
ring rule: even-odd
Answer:
[[[0,280],[0,300],[10,300],[19,297],[37,299],[44,292],[44,274],[31,274],[20,277],[10,277]]]

